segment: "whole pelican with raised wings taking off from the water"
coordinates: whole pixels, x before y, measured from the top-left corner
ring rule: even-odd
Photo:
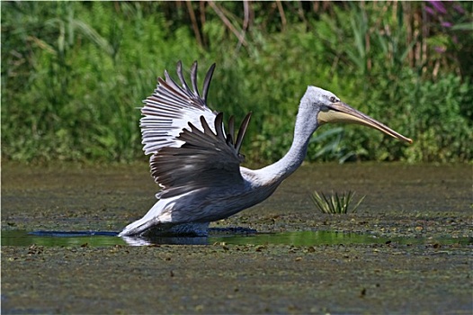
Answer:
[[[156,204],[139,220],[130,223],[121,237],[162,235],[206,236],[212,221],[263,202],[291,175],[306,157],[308,142],[317,128],[328,122],[351,122],[379,130],[396,139],[412,142],[386,125],[343,103],[333,93],[308,86],[299,103],[290,150],[276,163],[261,169],[240,164],[240,154],[251,112],[235,136],[235,120],[224,129],[223,113],[207,105],[213,64],[197,88],[197,62],[191,67],[191,84],[177,63],[178,85],[165,71],[156,90],[141,108],[143,150],[150,157],[151,175],[161,187]]]

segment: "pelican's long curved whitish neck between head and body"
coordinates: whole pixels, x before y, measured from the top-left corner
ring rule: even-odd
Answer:
[[[314,112],[310,112],[308,104],[301,101],[299,113],[294,128],[294,139],[290,150],[284,157],[276,163],[265,166],[258,170],[258,173],[272,184],[281,184],[289,175],[294,173],[302,164],[308,151],[308,141],[312,133],[317,129],[317,120],[314,121]]]

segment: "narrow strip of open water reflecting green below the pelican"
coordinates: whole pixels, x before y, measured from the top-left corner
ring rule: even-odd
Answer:
[[[94,235],[93,235],[94,234]],[[146,246],[154,244],[210,245],[352,245],[352,244],[472,244],[471,238],[378,238],[369,234],[337,231],[293,231],[254,235],[211,235],[208,238],[119,238],[113,232],[27,232],[24,230],[3,231],[2,246],[29,247],[111,247],[116,245]]]

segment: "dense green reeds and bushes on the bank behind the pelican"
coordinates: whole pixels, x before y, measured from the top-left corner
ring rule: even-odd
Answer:
[[[325,126],[310,161],[472,157],[473,3],[1,5],[4,159],[146,159],[137,107],[179,59],[187,69],[199,60],[201,76],[217,63],[213,109],[254,112],[243,148],[251,163],[289,149],[307,85],[414,139]]]

